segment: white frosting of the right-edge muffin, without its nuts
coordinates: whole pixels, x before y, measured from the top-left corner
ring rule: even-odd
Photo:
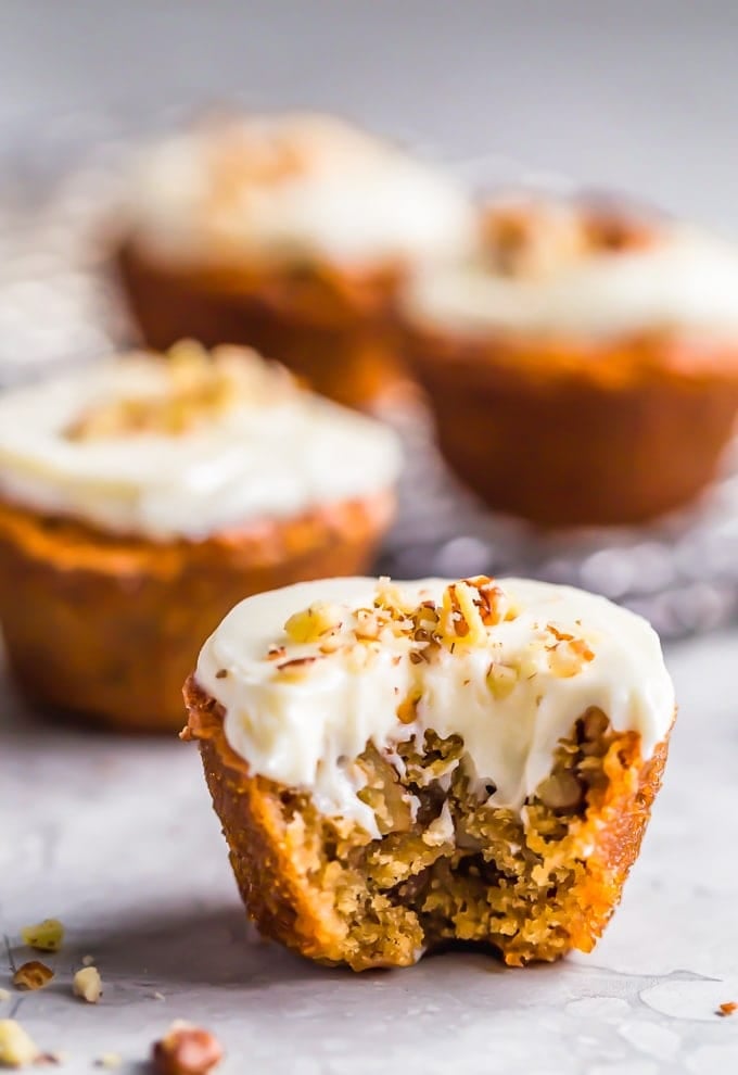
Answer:
[[[540,277],[481,261],[422,270],[406,295],[412,320],[454,331],[612,337],[648,329],[738,336],[738,249],[682,224],[641,249],[565,258]]]

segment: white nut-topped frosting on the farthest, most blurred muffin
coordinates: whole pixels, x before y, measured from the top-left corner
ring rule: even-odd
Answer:
[[[416,261],[457,255],[476,235],[450,177],[339,119],[302,114],[221,119],[149,147],[129,216],[151,254],[194,264]]]

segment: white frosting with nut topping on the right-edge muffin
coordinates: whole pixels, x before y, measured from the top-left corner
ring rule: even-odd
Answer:
[[[482,255],[416,277],[411,319],[472,333],[738,333],[738,250],[698,228],[574,203],[525,205],[491,222]]]

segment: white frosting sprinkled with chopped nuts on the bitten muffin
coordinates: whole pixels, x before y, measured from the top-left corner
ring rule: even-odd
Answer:
[[[441,641],[428,643],[424,616]],[[644,619],[521,579],[333,579],[249,597],[205,643],[195,679],[224,707],[226,738],[252,772],[374,836],[355,764],[369,743],[392,758],[427,730],[460,735],[485,796],[492,785],[492,804],[520,810],[590,707],[638,732],[645,758],[674,713]]]

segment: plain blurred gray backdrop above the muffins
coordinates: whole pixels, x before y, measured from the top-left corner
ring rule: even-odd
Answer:
[[[738,232],[737,45],[733,0],[0,0],[0,132],[238,92]]]

